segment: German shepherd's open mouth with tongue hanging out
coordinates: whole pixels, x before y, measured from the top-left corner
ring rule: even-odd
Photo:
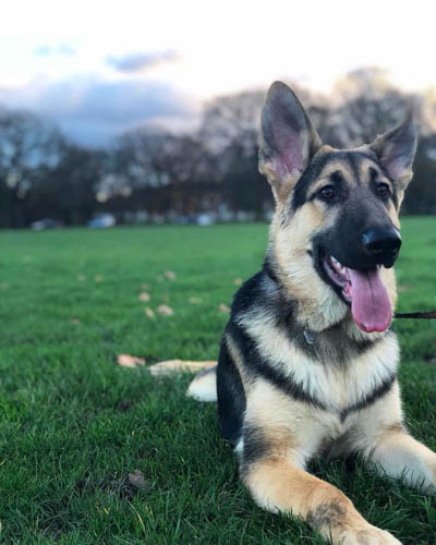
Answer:
[[[324,255],[323,268],[343,300],[351,304],[351,314],[358,326],[366,332],[385,331],[392,319],[392,308],[380,267],[356,270],[346,267],[332,255]]]

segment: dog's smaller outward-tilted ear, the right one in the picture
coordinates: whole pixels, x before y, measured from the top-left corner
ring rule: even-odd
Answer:
[[[370,146],[399,191],[404,191],[412,179],[416,143],[416,126],[410,114],[402,125],[377,136]]]

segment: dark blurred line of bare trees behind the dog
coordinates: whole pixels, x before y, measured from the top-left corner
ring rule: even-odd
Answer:
[[[379,70],[360,70],[331,96],[295,87],[322,140],[343,148],[399,124],[413,105],[420,126],[407,214],[436,213],[436,100],[396,88]],[[263,218],[271,194],[257,171],[258,120],[265,92],[219,97],[196,131],[145,128],[108,149],[84,148],[29,112],[0,110],[0,227],[50,217],[83,225],[111,213],[118,221],[178,220],[201,213]]]

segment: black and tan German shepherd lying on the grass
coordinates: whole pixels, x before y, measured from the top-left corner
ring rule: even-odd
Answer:
[[[311,459],[358,453],[435,491],[436,455],[402,422],[389,329],[415,148],[411,119],[355,149],[324,145],[294,93],[272,84],[259,150],[276,201],[265,263],[234,296],[216,384],[211,370],[190,386],[204,399],[216,388],[256,504],[303,518],[334,544],[400,542],[307,473]]]

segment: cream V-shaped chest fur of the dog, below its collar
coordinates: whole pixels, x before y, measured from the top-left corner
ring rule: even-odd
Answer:
[[[245,354],[249,365],[254,358],[264,379],[283,393],[342,420],[395,378],[393,332],[354,342],[338,327],[307,342],[302,328],[278,327],[267,315],[246,315],[240,323],[255,344],[255,352]]]

